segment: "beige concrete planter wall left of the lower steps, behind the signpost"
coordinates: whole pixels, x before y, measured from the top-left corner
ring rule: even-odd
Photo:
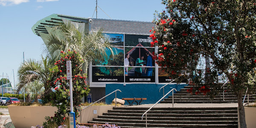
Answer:
[[[98,115],[112,110],[113,107],[115,106],[90,106],[81,111],[81,118],[79,117],[77,121],[87,123]],[[85,106],[81,108],[85,108]],[[42,126],[45,122],[45,116],[54,116],[55,111],[58,111],[56,107],[52,106],[8,106],[8,110],[13,125],[16,128],[30,128],[36,125]]]

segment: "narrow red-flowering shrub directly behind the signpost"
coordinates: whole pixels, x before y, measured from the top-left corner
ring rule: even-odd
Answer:
[[[72,66],[72,86],[73,86],[73,110],[76,113],[76,118],[79,116],[81,110],[81,99],[87,96],[90,92],[89,86],[86,84],[86,74],[81,75],[81,65],[83,60],[76,51],[68,51],[67,53],[61,51],[61,59],[56,61],[55,67],[50,69],[49,85],[54,88],[54,92],[50,93],[52,105],[58,108],[55,112],[55,117],[47,117],[48,122],[56,122],[61,124],[70,112],[70,90],[69,80],[67,80],[66,61],[71,61]],[[44,100],[44,99],[43,99]]]

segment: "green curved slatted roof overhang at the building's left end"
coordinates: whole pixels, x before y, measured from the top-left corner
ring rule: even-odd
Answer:
[[[60,14],[52,14],[49,15],[41,20],[38,20],[33,26],[32,31],[35,35],[41,36],[40,33],[48,34],[47,29],[45,26],[55,26],[59,23],[64,23],[63,19],[74,21],[74,22],[83,22],[88,23],[88,18],[83,17],[74,17],[74,16],[68,16],[68,15],[60,15]]]

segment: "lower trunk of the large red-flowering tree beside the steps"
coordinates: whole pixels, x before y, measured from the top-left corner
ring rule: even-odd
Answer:
[[[242,101],[243,91],[239,90],[238,92],[238,114],[239,114],[239,122],[240,122],[240,128],[246,128],[246,122],[245,122],[245,113],[244,113],[244,105]]]

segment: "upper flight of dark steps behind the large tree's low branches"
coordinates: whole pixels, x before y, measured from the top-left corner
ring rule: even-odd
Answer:
[[[209,96],[190,94],[186,90],[193,86],[185,86],[174,94],[174,103],[237,103],[237,96],[232,92],[224,92],[223,101],[223,91],[219,91],[219,94],[215,96],[214,99],[210,99]],[[256,95],[253,92],[249,93],[249,102],[256,101]],[[247,96],[244,101],[247,103]],[[172,103],[172,96],[164,99],[161,103]]]

